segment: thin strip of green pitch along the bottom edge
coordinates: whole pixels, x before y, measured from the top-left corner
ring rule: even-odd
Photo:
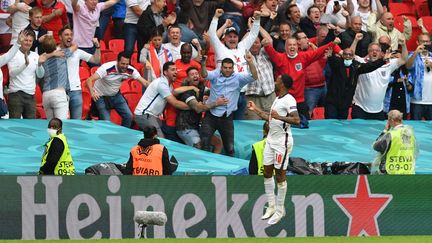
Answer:
[[[62,242],[84,242],[73,240],[33,240],[33,241],[18,241],[18,240],[3,240],[0,242],[29,242],[29,243],[62,243]],[[338,243],[338,242],[388,242],[388,243],[424,243],[432,242],[432,236],[385,236],[385,237],[306,237],[306,238],[228,238],[228,239],[126,239],[126,240],[85,240],[85,242],[97,243],[136,243],[136,242],[153,242],[153,243]]]

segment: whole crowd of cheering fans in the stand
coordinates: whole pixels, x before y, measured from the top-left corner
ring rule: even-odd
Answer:
[[[205,150],[220,150],[218,130],[233,155],[232,120],[259,119],[248,101],[270,112],[275,79],[288,74],[301,128],[317,109],[326,119],[384,120],[393,109],[432,119],[429,26],[384,1],[0,2],[12,33],[0,57],[9,118],[36,118],[40,89],[48,119],[110,120],[115,110],[123,126]],[[111,21],[124,51],[101,50]]]

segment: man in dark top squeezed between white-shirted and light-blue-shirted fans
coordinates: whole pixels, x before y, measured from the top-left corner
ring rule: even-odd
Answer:
[[[199,127],[201,124],[202,112],[217,106],[226,105],[228,104],[228,99],[219,97],[213,103],[203,104],[206,87],[200,80],[198,68],[196,66],[191,66],[186,70],[186,73],[187,77],[183,81],[183,86],[195,86],[199,89],[199,93],[197,94],[191,90],[179,96],[179,99],[188,104],[191,110],[179,110],[177,112],[177,134],[185,144],[201,148]]]

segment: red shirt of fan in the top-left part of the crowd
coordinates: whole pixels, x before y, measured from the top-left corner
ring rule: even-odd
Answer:
[[[45,8],[42,5],[42,0],[37,0],[37,5],[42,10],[42,16],[50,15],[54,9],[63,10],[63,14],[61,16],[57,16],[49,22],[42,23],[42,28],[52,31],[54,39],[57,41],[57,43],[60,43],[58,32],[63,27],[63,25],[68,23],[65,5],[61,2],[54,1],[50,7]]]

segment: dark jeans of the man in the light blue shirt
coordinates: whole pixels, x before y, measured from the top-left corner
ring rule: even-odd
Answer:
[[[221,135],[225,154],[234,156],[234,114],[231,113],[228,117],[217,117],[207,112],[200,130],[201,148],[206,151],[211,151],[211,139],[217,130]]]

